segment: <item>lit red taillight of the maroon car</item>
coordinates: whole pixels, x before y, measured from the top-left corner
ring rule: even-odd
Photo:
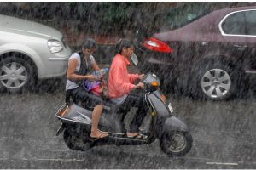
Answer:
[[[170,48],[165,42],[161,42],[160,40],[150,37],[144,40],[142,43],[144,48],[148,48],[153,51],[163,52],[163,53],[172,53],[173,49]]]

